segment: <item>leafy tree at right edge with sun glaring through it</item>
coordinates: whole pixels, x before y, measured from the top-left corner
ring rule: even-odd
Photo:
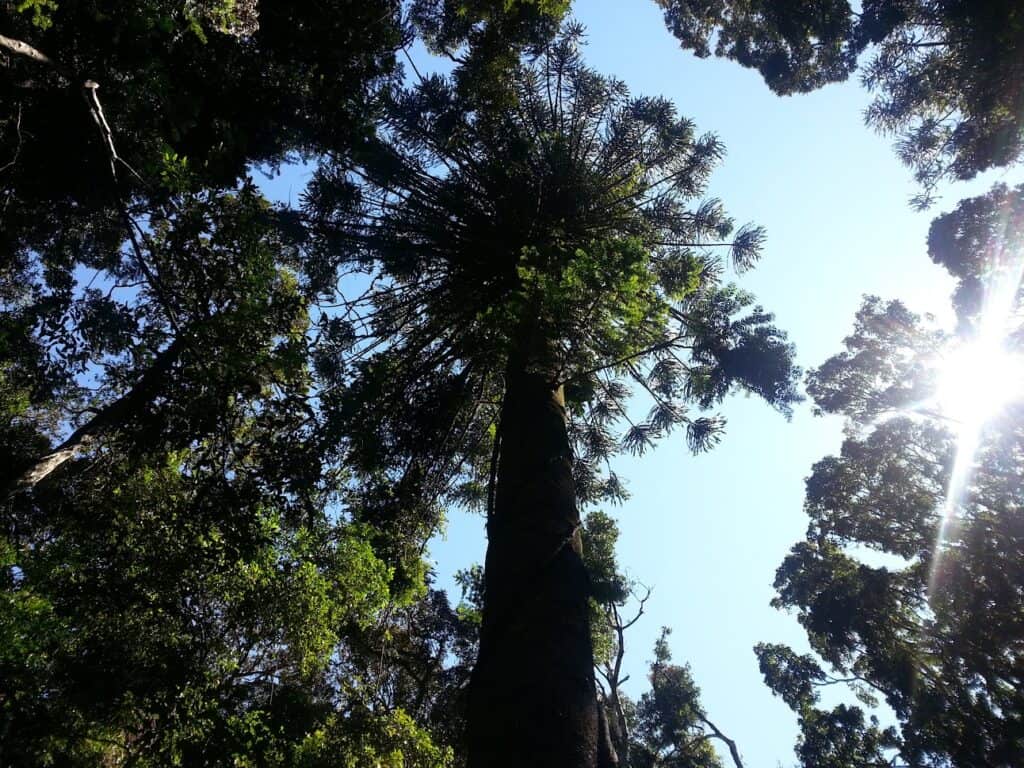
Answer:
[[[830,672],[784,646],[758,648],[767,682],[800,715],[806,766],[1024,760],[1024,380],[976,436],[934,397],[951,345],[995,329],[997,354],[1024,354],[1022,194],[996,187],[932,225],[931,256],[957,279],[956,337],[871,299],[846,350],[809,377],[818,408],[845,415],[850,433],[807,481],[807,540],[776,574],[775,604],[797,611]],[[975,374],[974,395],[987,396],[991,374]],[[884,698],[896,725],[856,707],[819,710],[818,689],[842,682]]]

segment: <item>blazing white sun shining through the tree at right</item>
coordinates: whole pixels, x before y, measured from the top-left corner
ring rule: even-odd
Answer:
[[[935,406],[957,431],[979,429],[1024,397],[1024,355],[975,341],[950,349],[936,371]]]

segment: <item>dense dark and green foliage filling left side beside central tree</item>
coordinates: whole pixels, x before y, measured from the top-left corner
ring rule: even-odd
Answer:
[[[339,667],[423,587],[311,396],[330,265],[245,178],[370,129],[397,4],[251,10],[3,11],[4,765],[450,760]]]

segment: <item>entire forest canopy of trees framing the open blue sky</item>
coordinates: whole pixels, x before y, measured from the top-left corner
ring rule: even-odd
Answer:
[[[1019,160],[1009,0],[655,4],[778,94],[859,73],[919,204]],[[633,642],[708,574],[616,550],[624,461],[714,453],[737,394],[846,425],[775,574],[807,643],[755,649],[799,764],[1021,763],[1024,186],[932,224],[954,326],[867,296],[805,378],[725,143],[571,13],[0,10],[0,766],[743,768]],[[435,565],[464,514],[484,561]]]

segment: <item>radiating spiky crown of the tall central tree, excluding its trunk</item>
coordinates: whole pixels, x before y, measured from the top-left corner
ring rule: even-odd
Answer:
[[[709,444],[719,425],[690,416],[687,400],[710,408],[734,387],[783,411],[797,398],[784,336],[749,294],[721,285],[726,261],[712,250],[741,271],[763,231],[737,229],[717,200],[687,207],[721,143],[697,136],[664,99],[630,97],[585,68],[578,36],[511,75],[514,109],[467,101],[440,77],[397,92],[393,140],[335,159],[310,184],[316,247],[343,243],[350,268],[380,270],[345,304],[345,333],[367,351],[339,395],[377,403],[348,427],[368,443],[368,467],[392,443],[429,444],[399,430],[417,424],[411,406],[438,428],[452,387],[497,404],[495,378],[527,313],[552,339],[546,365],[565,383],[571,433],[586,440],[577,467],[585,500],[614,495],[614,485],[584,482],[609,452],[640,453],[677,425],[694,449]],[[367,344],[378,338],[388,345]],[[447,389],[431,375],[447,377]],[[631,383],[654,409],[616,440],[607,427],[625,421]],[[426,391],[435,392],[429,401],[417,394]],[[494,421],[493,408],[476,410]]]

